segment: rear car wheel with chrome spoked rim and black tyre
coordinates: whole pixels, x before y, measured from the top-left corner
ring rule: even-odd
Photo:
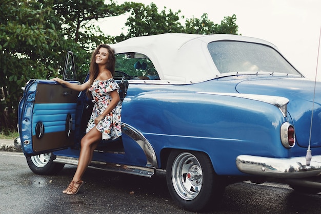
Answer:
[[[172,151],[167,162],[166,180],[173,200],[190,211],[200,211],[219,202],[225,190],[211,160],[201,152]]]

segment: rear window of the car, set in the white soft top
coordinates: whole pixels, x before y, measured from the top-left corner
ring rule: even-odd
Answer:
[[[208,44],[216,68],[220,73],[277,72],[300,73],[273,48],[244,41],[213,41]]]

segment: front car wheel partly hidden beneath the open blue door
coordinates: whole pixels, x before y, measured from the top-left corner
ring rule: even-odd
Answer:
[[[38,175],[54,175],[62,170],[65,166],[63,163],[53,162],[55,155],[52,153],[45,153],[27,157],[29,168]]]

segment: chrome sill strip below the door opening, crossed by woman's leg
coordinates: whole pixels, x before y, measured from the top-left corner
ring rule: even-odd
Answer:
[[[78,165],[77,158],[71,158],[71,157],[65,157],[65,156],[57,156],[56,159],[53,161],[56,163]],[[153,168],[130,166],[130,165],[123,165],[123,164],[116,164],[116,163],[106,163],[106,162],[99,162],[99,161],[92,161],[88,167],[95,168],[95,169],[102,169],[109,172],[139,175],[139,176],[144,176],[148,178],[152,177],[155,174],[155,169]]]

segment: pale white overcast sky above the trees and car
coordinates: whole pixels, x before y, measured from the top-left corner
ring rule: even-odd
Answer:
[[[130,0],[127,0],[130,2]],[[124,0],[118,0],[119,4]],[[224,16],[236,15],[238,33],[272,42],[281,53],[306,77],[314,79],[317,66],[321,28],[320,0],[135,0],[145,5],[154,3],[161,11],[166,7],[180,16],[200,18],[220,24]],[[108,35],[119,35],[127,16],[110,17],[99,21]],[[184,24],[184,22],[183,22]],[[321,51],[320,51],[321,52]],[[321,55],[321,53],[319,54]],[[317,80],[321,81],[319,56]]]

